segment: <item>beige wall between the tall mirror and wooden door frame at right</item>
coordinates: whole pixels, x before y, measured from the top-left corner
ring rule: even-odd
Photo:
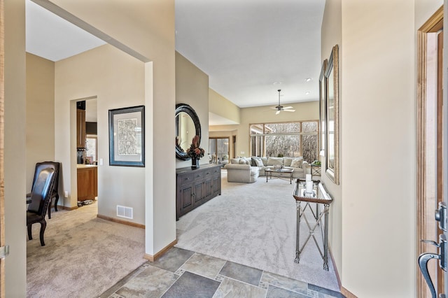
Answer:
[[[341,84],[341,184],[324,178],[335,198],[330,244],[342,286],[358,297],[416,295],[415,36],[440,5],[335,0],[325,6],[322,58],[339,43]]]

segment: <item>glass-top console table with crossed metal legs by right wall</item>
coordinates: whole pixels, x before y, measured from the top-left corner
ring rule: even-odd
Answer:
[[[328,212],[330,211],[330,204],[333,199],[330,197],[330,194],[328,194],[325,187],[323,187],[323,184],[320,183],[319,180],[313,180],[313,190],[312,192],[307,192],[306,182],[304,179],[296,180],[293,197],[295,199],[297,211],[294,262],[300,262],[300,253],[302,253],[308,241],[313,238],[314,243],[316,243],[318,251],[323,259],[323,269],[328,271]],[[311,204],[316,204],[315,210],[311,208]],[[321,206],[323,206],[323,208],[321,208]],[[309,208],[308,210],[311,212],[305,214],[307,208]],[[306,222],[307,228],[309,229],[307,239],[304,240],[302,245],[300,245],[301,220]],[[319,234],[315,233],[316,227],[320,227],[321,229],[321,241],[316,239],[316,234]]]

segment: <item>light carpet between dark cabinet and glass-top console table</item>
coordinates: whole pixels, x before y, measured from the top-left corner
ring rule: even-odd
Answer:
[[[338,291],[333,264],[329,260],[330,270],[323,270],[323,260],[312,239],[304,247],[300,263],[294,262],[294,183],[280,179],[266,182],[265,177],[255,183],[228,183],[226,172],[222,173],[221,196],[177,222],[176,247]],[[307,218],[314,220],[309,209]],[[309,235],[304,220],[300,233],[304,243]],[[319,228],[315,235],[322,239]]]

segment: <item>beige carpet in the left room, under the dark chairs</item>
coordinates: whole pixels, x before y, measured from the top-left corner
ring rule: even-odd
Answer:
[[[27,241],[27,297],[97,297],[146,262],[144,229],[97,218],[96,203],[51,216],[45,246],[39,224]]]

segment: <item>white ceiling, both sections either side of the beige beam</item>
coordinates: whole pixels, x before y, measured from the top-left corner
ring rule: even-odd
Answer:
[[[207,73],[223,97],[241,108],[276,106],[279,89],[281,104],[318,100],[325,0],[175,3],[176,50]],[[29,0],[26,20],[27,52],[45,59],[105,43]]]

